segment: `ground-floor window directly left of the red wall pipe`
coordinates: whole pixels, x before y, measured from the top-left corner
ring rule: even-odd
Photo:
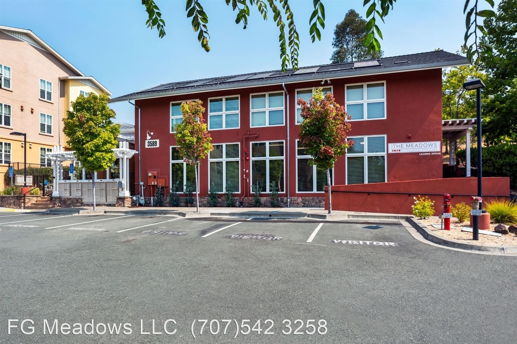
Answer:
[[[210,166],[210,188],[214,184],[217,192],[226,192],[226,184],[231,183],[235,192],[240,192],[239,184],[239,144],[214,144],[208,154]]]

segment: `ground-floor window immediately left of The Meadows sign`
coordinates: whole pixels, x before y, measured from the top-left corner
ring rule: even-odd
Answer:
[[[386,182],[386,135],[348,137],[346,184]]]

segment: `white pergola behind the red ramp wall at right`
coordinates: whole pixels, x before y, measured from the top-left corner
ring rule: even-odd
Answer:
[[[453,149],[453,143],[466,136],[466,162],[465,176],[470,177],[470,130],[477,125],[475,118],[462,120],[443,120],[442,121],[442,137],[449,141],[449,165],[456,165],[456,152]]]

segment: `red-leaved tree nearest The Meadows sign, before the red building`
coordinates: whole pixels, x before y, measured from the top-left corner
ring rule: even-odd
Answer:
[[[300,98],[298,105],[303,119],[298,137],[305,151],[312,156],[309,163],[327,171],[328,213],[332,214],[330,169],[353,143],[346,140],[346,133],[351,129],[348,116],[331,93],[323,96],[321,88],[314,91],[309,104]]]

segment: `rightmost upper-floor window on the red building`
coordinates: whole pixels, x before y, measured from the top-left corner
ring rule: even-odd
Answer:
[[[346,113],[352,121],[386,118],[386,83],[346,85]]]

